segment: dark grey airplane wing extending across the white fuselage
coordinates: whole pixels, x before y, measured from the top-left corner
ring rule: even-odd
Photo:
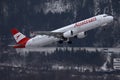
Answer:
[[[47,36],[53,36],[56,38],[62,38],[63,33],[62,32],[51,32],[51,31],[34,31],[30,33],[30,36],[36,36],[36,35],[47,35]]]

